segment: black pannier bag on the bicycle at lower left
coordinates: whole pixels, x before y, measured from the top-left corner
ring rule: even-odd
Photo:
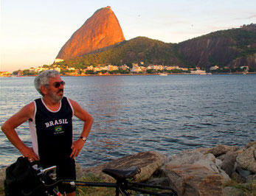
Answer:
[[[30,163],[27,158],[19,157],[6,169],[4,192],[7,196],[44,195],[44,184],[36,170],[39,162]]]

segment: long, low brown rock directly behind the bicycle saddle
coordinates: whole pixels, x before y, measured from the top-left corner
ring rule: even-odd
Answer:
[[[146,181],[151,178],[156,169],[159,169],[166,162],[167,158],[162,153],[148,151],[117,158],[97,167],[83,169],[83,173],[85,175],[91,174],[96,177],[102,177],[106,181],[114,181],[114,178],[102,172],[104,168],[125,169],[137,166],[141,169],[141,172],[136,175],[136,181]]]

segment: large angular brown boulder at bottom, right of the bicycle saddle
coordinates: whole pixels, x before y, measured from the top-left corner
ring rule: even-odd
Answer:
[[[178,195],[223,195],[223,178],[195,164],[165,164],[165,172]]]

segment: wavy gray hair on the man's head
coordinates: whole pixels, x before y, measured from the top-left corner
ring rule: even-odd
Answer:
[[[44,96],[44,94],[41,92],[41,85],[49,85],[49,78],[54,78],[57,75],[60,75],[60,73],[56,70],[46,70],[41,72],[37,77],[35,77],[34,80],[36,90]]]

